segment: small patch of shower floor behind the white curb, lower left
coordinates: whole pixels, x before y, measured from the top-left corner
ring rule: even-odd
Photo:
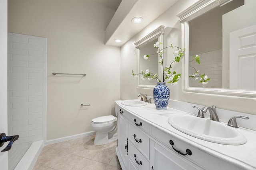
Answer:
[[[21,158],[27,152],[29,146],[20,147],[20,148],[12,148],[8,151],[8,170],[14,170],[17,164],[20,162]]]

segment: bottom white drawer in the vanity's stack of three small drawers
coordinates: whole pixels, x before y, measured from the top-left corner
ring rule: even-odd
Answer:
[[[130,143],[129,147],[129,161],[131,161],[138,170],[149,170],[148,160],[140,153],[139,150],[136,149],[136,147],[134,147],[132,143]]]

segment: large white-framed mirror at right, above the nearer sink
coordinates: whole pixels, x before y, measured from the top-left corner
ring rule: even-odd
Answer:
[[[255,8],[255,0],[199,0],[177,15],[186,48],[184,92],[256,97]],[[196,68],[211,78],[206,85],[188,78],[189,56],[196,54]]]

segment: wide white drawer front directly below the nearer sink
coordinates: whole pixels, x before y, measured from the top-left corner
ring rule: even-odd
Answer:
[[[178,155],[182,156],[183,158],[185,158],[190,162],[198,162],[198,160],[203,160],[203,161],[200,161],[200,164],[198,165],[203,169],[208,169],[208,170],[216,170],[216,169],[239,170],[240,169],[228,162],[225,162],[224,160],[220,160],[210,154],[207,154],[206,152],[202,152],[201,150],[196,149],[191,145],[188,145],[187,143],[184,143],[176,139],[175,137],[168,135],[163,131],[160,131],[159,129],[156,129],[155,127],[152,127],[152,137],[154,137],[154,139],[156,139],[157,141],[161,141],[160,143],[168,147],[171,152],[175,152],[176,154],[178,154],[178,152],[176,152],[174,149],[182,152],[183,154],[186,154],[187,153],[186,150],[189,149],[192,152],[191,155],[188,155],[188,154],[186,155],[178,154]],[[172,143],[173,145],[170,144],[170,140],[173,142]],[[174,147],[174,149],[172,147]]]

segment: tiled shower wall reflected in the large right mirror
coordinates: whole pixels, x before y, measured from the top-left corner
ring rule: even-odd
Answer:
[[[198,54],[200,56],[200,64],[196,62],[190,63],[190,66],[200,70],[200,74],[206,74],[208,78],[211,78],[208,84],[204,85],[208,88],[222,88],[222,49],[210,51],[207,53]],[[190,61],[192,61],[192,56]],[[189,74],[195,74],[195,70],[190,68]],[[191,87],[202,87],[202,84],[198,83],[198,80],[194,78],[189,79],[189,85]]]

